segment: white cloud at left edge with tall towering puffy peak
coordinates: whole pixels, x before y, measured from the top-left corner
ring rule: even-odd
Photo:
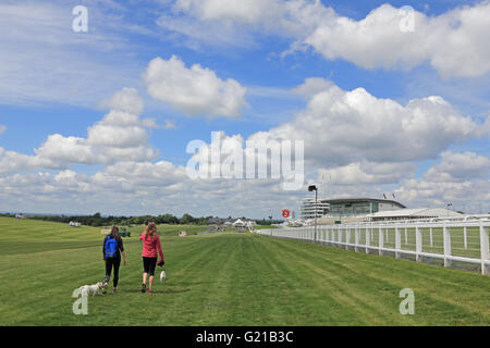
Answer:
[[[155,124],[126,111],[142,112],[143,101],[133,89],[124,88],[109,101],[115,110],[87,129],[87,137],[49,135],[35,156],[0,151],[0,173],[36,169],[68,169],[73,164],[110,164],[118,161],[150,161],[158,151],[148,145],[148,130]],[[126,110],[126,111],[121,111]]]

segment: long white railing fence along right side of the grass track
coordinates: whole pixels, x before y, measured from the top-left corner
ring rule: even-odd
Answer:
[[[391,221],[345,225],[257,231],[257,234],[291,238],[366,253],[441,260],[445,268],[473,264],[490,274],[490,219]],[[412,257],[411,257],[412,256]]]

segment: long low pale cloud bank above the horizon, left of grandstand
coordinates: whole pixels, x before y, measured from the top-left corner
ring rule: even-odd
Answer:
[[[299,199],[270,181],[191,181],[184,167],[166,161],[123,161],[93,175],[71,170],[13,174],[0,176],[0,210],[56,213],[262,217],[265,207],[291,207]]]

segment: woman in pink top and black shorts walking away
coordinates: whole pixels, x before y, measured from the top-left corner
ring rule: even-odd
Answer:
[[[151,294],[151,287],[154,285],[155,279],[155,266],[157,265],[157,250],[160,254],[159,264],[164,264],[163,252],[161,251],[160,238],[157,234],[157,225],[154,222],[150,222],[145,232],[139,235],[139,239],[143,240],[143,284],[142,284],[142,293],[146,290],[146,281],[148,279],[148,273],[150,276],[150,284],[148,294]]]

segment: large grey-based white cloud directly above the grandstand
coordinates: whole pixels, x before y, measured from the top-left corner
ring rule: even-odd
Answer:
[[[364,88],[351,91],[326,84],[292,122],[250,136],[253,140],[305,141],[305,160],[319,167],[363,161],[376,163],[434,159],[450,145],[482,135],[441,97],[406,105],[380,99]],[[299,87],[298,89],[302,89]]]

